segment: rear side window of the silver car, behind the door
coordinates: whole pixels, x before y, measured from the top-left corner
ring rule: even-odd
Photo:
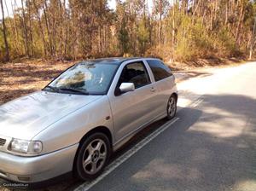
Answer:
[[[160,81],[163,78],[172,76],[171,69],[161,61],[148,60],[148,65],[154,74],[154,80]]]

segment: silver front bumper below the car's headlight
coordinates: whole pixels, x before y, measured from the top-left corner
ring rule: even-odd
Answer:
[[[0,177],[15,182],[43,182],[73,170],[79,144],[36,157],[0,153]]]

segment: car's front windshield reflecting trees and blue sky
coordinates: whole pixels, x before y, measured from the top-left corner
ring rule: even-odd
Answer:
[[[44,90],[84,95],[104,95],[118,65],[85,61],[63,72]]]

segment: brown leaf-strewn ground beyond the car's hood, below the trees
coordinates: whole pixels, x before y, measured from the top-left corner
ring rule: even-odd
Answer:
[[[0,105],[42,90],[73,62],[30,60],[3,64],[0,67]],[[1,190],[1,189],[0,189]]]

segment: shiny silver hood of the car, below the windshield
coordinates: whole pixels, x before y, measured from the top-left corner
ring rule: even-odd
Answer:
[[[0,136],[31,140],[50,124],[102,96],[38,91],[0,106]]]

